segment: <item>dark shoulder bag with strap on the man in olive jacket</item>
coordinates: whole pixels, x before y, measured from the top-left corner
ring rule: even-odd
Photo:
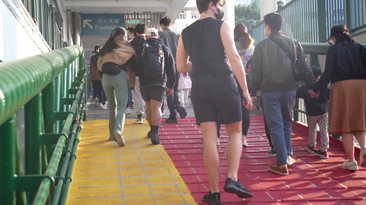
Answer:
[[[294,48],[294,55],[292,55],[292,51],[287,51],[279,42],[276,41],[275,38],[269,38],[271,39],[276,45],[283,50],[283,52],[286,54],[286,56],[290,59],[292,62],[292,68],[294,72],[294,78],[295,82],[302,82],[304,80],[304,67],[301,64],[301,62],[297,59],[297,46],[295,43],[295,40],[292,39],[292,47]]]

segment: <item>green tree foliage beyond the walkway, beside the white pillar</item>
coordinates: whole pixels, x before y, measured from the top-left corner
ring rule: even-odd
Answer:
[[[252,0],[249,5],[235,5],[235,25],[244,24],[248,29],[251,28],[251,22],[259,22],[261,12],[259,11],[259,0]]]

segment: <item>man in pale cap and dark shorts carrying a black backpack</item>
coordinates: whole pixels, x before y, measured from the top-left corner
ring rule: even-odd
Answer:
[[[133,42],[133,41],[132,41]],[[150,125],[147,137],[153,144],[160,144],[159,126],[161,122],[161,105],[165,93],[173,94],[175,84],[175,66],[172,52],[158,39],[156,28],[146,30],[146,42],[137,50],[137,75],[140,90],[146,103],[146,118]]]

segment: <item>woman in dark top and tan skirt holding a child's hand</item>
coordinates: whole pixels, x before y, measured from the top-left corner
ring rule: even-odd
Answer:
[[[341,167],[356,171],[353,135],[361,147],[360,166],[366,167],[366,48],[351,38],[345,25],[332,27],[329,42],[324,73],[309,93],[317,97],[332,84],[329,134],[342,136],[348,160]]]

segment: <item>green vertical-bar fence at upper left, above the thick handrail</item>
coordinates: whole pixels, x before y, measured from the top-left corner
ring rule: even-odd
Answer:
[[[22,0],[32,18],[36,19],[43,38],[52,50],[64,47],[62,32],[55,21],[55,6],[47,0]]]

